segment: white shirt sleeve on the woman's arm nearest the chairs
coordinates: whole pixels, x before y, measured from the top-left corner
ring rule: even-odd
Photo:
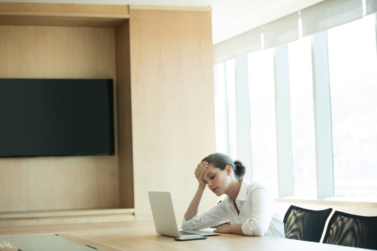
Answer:
[[[253,190],[251,199],[251,218],[242,224],[242,232],[247,236],[264,236],[274,216],[274,201],[265,188]]]

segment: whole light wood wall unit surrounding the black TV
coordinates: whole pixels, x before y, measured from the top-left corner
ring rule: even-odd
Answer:
[[[88,208],[150,218],[148,190],[170,190],[184,213],[193,170],[215,151],[210,8],[0,3],[0,34],[0,77],[112,78],[117,124],[113,156],[1,158],[0,218]]]

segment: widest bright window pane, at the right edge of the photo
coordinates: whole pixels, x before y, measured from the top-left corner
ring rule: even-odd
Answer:
[[[375,32],[374,15],[327,31],[336,197],[377,197]]]

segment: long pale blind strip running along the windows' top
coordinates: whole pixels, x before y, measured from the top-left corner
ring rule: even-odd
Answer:
[[[377,11],[377,0],[365,1],[367,14]],[[214,64],[298,40],[300,30],[302,36],[308,36],[362,16],[362,0],[322,1],[300,10],[302,24],[299,24],[297,12],[214,45]]]

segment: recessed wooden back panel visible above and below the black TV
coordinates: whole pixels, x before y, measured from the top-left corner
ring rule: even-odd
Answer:
[[[0,34],[0,77],[116,80],[114,28],[0,26]],[[0,158],[0,184],[0,211],[119,206],[116,155]]]

